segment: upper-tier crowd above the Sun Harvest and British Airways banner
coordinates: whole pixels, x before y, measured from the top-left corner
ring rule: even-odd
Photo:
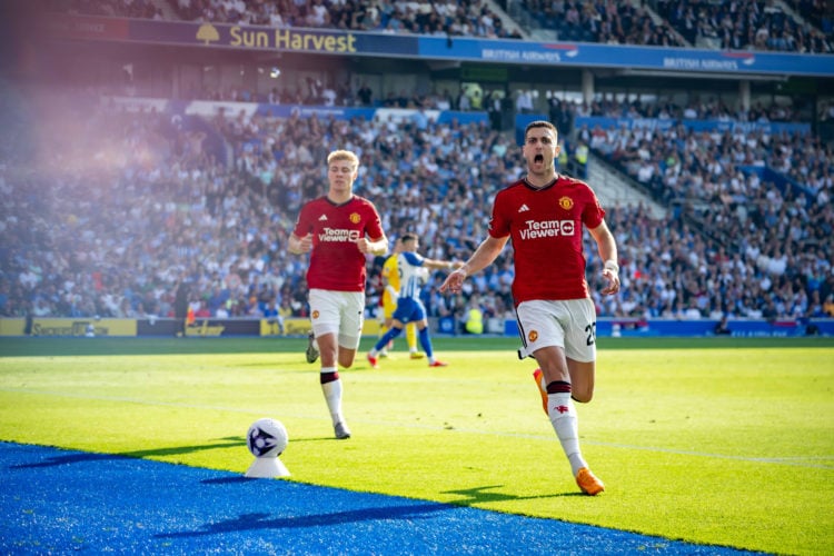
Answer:
[[[519,29],[529,21],[570,42],[834,52],[832,18],[818,1],[792,1],[786,11],[765,0],[656,0],[639,6],[614,0],[522,0],[518,8],[527,17],[509,29],[502,16],[508,17],[510,3],[498,2],[505,11],[498,14],[484,0],[167,0],[169,11],[187,21],[494,39],[520,39]],[[47,6],[63,12],[166,18],[153,0],[48,0]],[[527,27],[525,31],[532,31]]]

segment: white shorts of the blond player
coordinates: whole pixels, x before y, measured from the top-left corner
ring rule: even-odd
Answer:
[[[358,349],[365,321],[364,291],[311,289],[309,301],[316,337],[335,334],[340,347]]]

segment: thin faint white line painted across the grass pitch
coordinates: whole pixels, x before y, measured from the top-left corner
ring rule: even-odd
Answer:
[[[66,398],[96,399],[99,401],[121,401],[126,404],[138,404],[138,405],[146,405],[146,406],[177,407],[177,408],[185,408],[185,409],[202,409],[202,410],[211,410],[211,411],[228,411],[228,413],[238,413],[238,414],[255,415],[255,416],[266,415],[269,411],[269,410],[265,411],[265,410],[254,410],[254,409],[240,409],[238,407],[209,406],[209,405],[200,405],[200,404],[183,404],[179,401],[149,401],[146,399],[128,398],[128,397],[121,397],[121,396],[90,396],[87,394],[76,394],[76,393],[68,393],[68,391],[32,390],[28,388],[2,388],[0,387],[0,391],[8,391],[8,393],[16,393],[16,394],[30,394],[30,395],[37,395],[37,396],[56,396],[56,397],[66,397]],[[321,416],[310,416],[310,415],[297,415],[297,414],[285,414],[285,415],[286,417],[294,418],[294,419],[319,420],[322,418]],[[415,428],[415,429],[425,429],[425,430],[447,430],[451,433],[464,433],[464,434],[470,434],[470,435],[498,436],[498,437],[508,437],[508,438],[529,438],[533,440],[557,441],[556,437],[550,436],[550,435],[498,433],[498,431],[492,431],[492,430],[480,430],[480,429],[459,428],[459,427],[447,428],[445,426],[421,425],[421,424],[413,424],[413,423],[397,423],[397,421],[363,420],[363,419],[353,419],[351,423],[364,423],[366,425],[376,425],[376,426],[385,426],[385,427]],[[752,457],[752,456],[732,456],[727,454],[711,454],[711,453],[695,451],[695,450],[681,450],[681,449],[672,449],[672,448],[662,448],[662,447],[656,447],[656,446],[635,446],[635,445],[629,445],[629,444],[603,443],[603,441],[595,441],[595,440],[587,440],[587,439],[584,439],[583,443],[586,445],[603,446],[606,448],[657,451],[657,453],[674,454],[674,455],[679,455],[679,456],[705,457],[705,458],[715,458],[715,459],[732,459],[735,461],[786,465],[786,466],[794,466],[794,467],[807,467],[807,468],[814,468],[814,469],[834,469],[834,464],[826,465],[826,464],[814,464],[810,461],[810,460],[834,461],[834,456]]]

